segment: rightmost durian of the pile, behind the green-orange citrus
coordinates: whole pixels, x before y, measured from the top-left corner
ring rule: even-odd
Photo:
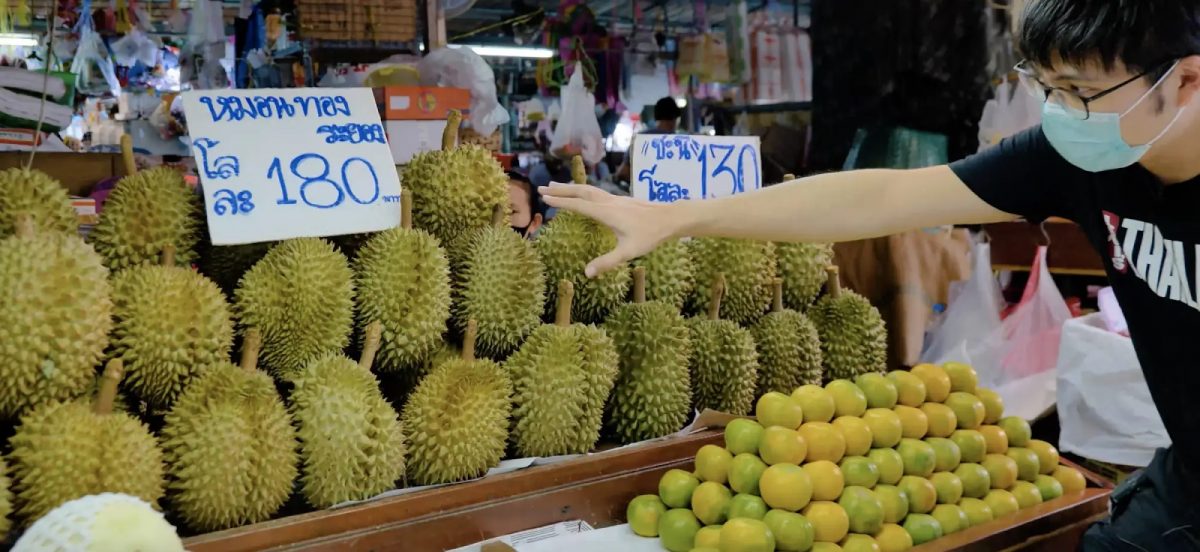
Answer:
[[[838,268],[826,269],[828,294],[809,311],[821,335],[824,379],[850,379],[883,372],[888,362],[888,331],[880,311],[862,295],[842,289]]]

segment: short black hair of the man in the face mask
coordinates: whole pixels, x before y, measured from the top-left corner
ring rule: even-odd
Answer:
[[[1018,42],[1042,67],[1121,62],[1158,80],[1170,61],[1200,54],[1200,0],[1028,0]]]

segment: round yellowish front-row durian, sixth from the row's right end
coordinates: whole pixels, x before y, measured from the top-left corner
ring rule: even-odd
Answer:
[[[468,322],[462,359],[434,367],[404,404],[413,484],[479,478],[504,457],[512,382],[496,362],[475,360],[475,331]]]

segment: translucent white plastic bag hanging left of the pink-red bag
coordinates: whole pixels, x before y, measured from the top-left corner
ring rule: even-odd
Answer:
[[[991,244],[979,241],[971,248],[971,277],[950,284],[946,316],[930,329],[920,361],[973,364],[967,347],[1000,328],[1003,307],[1004,298],[991,270]]]

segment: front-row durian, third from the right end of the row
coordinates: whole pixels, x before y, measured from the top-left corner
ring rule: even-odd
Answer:
[[[731,320],[722,320],[725,276],[716,275],[707,318],[688,320],[691,330],[691,384],[697,410],[712,408],[750,414],[758,383],[758,353],[754,337]]]

